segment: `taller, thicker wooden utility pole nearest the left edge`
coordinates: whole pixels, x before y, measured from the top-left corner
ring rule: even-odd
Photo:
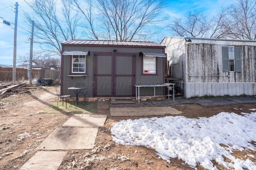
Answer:
[[[18,2],[15,3],[15,25],[14,25],[14,45],[13,45],[13,67],[12,82],[16,81],[16,54],[17,54],[17,26],[18,26]]]

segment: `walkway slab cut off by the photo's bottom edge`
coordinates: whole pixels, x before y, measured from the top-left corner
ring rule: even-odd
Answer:
[[[20,170],[57,170],[68,151],[38,151]]]

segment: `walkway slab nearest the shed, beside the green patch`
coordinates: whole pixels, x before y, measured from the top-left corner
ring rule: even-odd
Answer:
[[[102,127],[105,124],[107,115],[86,115],[75,114],[62,126],[65,127]]]

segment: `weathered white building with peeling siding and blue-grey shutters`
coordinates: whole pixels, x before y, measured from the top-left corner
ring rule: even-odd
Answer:
[[[185,98],[256,95],[256,41],[164,37],[161,44]]]

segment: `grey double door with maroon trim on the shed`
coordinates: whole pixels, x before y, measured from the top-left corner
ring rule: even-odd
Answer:
[[[134,96],[135,54],[94,54],[94,96]]]

